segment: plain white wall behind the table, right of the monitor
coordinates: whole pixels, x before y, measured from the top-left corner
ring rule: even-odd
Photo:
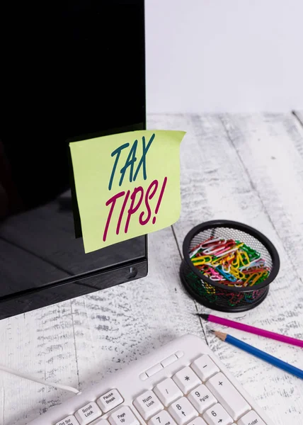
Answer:
[[[303,0],[145,0],[147,112],[303,109]]]

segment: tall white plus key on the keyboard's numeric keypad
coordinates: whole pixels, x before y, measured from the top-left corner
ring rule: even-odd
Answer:
[[[235,421],[251,410],[246,399],[241,396],[223,373],[217,373],[217,375],[210,378],[206,382],[206,386]]]

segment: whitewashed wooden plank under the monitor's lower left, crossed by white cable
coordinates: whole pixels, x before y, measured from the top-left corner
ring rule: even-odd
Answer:
[[[0,335],[1,363],[38,378],[77,385],[70,301],[4,319]],[[4,392],[4,425],[26,424],[69,397],[67,392],[7,373],[0,373],[0,387]]]

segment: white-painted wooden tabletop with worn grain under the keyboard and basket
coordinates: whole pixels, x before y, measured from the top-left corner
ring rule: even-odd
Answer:
[[[185,293],[178,268],[185,234],[215,218],[256,227],[281,268],[266,300],[242,314],[217,313],[303,339],[303,113],[152,115],[148,128],[185,130],[182,213],[149,236],[149,276],[0,322],[1,363],[83,390],[186,333],[207,341],[276,425],[303,424],[303,381],[215,339]],[[302,348],[230,330],[303,368]],[[69,393],[0,373],[0,424],[25,425]]]

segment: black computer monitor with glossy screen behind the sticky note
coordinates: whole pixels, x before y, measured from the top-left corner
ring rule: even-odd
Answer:
[[[0,6],[0,318],[147,274],[147,237],[84,254],[71,140],[144,130],[144,1]]]

